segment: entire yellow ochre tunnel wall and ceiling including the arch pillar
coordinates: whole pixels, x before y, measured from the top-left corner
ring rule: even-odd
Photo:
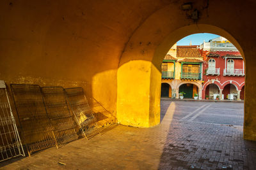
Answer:
[[[83,87],[120,124],[152,127],[160,122],[164,55],[189,34],[219,34],[245,59],[244,138],[256,140],[255,1],[189,2],[191,11],[181,10],[185,1],[3,0],[0,77]],[[195,9],[198,20],[189,18]]]

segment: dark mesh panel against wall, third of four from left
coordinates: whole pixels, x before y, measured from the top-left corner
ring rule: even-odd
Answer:
[[[63,87],[42,87],[42,94],[58,145],[76,140],[77,124],[68,109]]]

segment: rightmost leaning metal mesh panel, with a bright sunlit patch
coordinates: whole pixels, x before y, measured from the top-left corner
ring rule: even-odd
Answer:
[[[80,130],[85,138],[90,138],[99,132],[97,120],[93,115],[84,90],[81,87],[65,89],[67,101],[74,113],[75,120],[80,127]]]

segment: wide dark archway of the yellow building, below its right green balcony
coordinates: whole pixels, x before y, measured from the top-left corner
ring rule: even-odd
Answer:
[[[198,87],[191,83],[182,84],[179,87],[179,94],[184,92],[184,98],[192,99],[196,94],[198,94]]]

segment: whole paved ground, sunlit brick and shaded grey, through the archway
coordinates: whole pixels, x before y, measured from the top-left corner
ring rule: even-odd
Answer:
[[[0,169],[256,169],[256,143],[243,140],[243,103],[164,100],[160,125],[106,130]]]

